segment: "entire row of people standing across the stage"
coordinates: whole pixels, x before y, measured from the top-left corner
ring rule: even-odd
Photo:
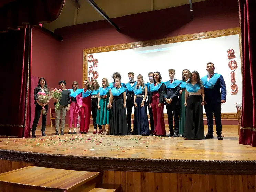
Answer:
[[[84,81],[84,88],[79,89],[76,81],[72,89],[65,88],[66,82],[60,81],[62,97],[60,107],[56,111],[55,130],[58,135],[58,126],[61,116],[61,135],[64,135],[66,111],[69,112],[69,131],[76,133],[77,118],[80,115],[80,133],[87,133],[90,125],[90,116],[93,117],[94,134],[110,135],[158,135],[167,137],[185,137],[185,139],[212,139],[213,114],[215,117],[217,138],[221,135],[221,105],[226,102],[226,86],[222,75],[214,73],[214,64],[207,63],[208,75],[202,79],[197,71],[190,73],[188,69],[182,71],[182,79],[175,79],[175,70],[170,69],[170,79],[162,81],[160,72],[149,72],[149,82],[145,83],[141,74],[134,80],[134,73],[129,72],[129,82],[121,82],[120,73],[112,75],[113,81],[109,84],[107,78],[102,78],[101,86],[94,79],[91,84]],[[38,92],[49,92],[44,78],[39,79],[38,86],[34,90],[36,115],[32,127],[32,137],[35,137],[35,129],[40,118],[42,107],[47,110],[47,104],[41,104],[37,100]],[[169,134],[166,135],[164,123],[164,105],[168,115]],[[204,136],[203,105],[208,124],[208,133]],[[148,122],[147,106],[150,117]],[[134,119],[132,129],[132,108]],[[39,113],[40,111],[40,113]],[[174,126],[173,126],[174,118]],[[42,119],[42,136],[45,136],[46,114]],[[108,125],[108,131],[105,126]],[[99,130],[97,130],[97,126]]]

